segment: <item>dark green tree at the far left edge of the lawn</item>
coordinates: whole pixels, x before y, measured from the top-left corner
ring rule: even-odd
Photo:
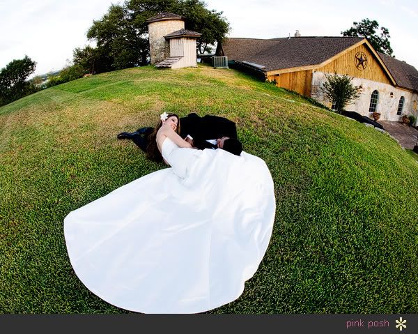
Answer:
[[[6,105],[36,91],[35,86],[26,81],[36,68],[36,62],[29,56],[10,61],[0,70],[0,105]]]

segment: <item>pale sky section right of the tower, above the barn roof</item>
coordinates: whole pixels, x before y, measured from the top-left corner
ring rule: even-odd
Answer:
[[[299,30],[302,36],[341,36],[341,31],[350,29],[353,22],[365,18],[376,20],[389,29],[390,42],[396,58],[418,66],[418,53],[411,52],[417,44],[412,31],[416,17],[412,10],[415,4],[408,0],[360,0],[337,1],[270,1],[270,0],[206,0],[208,8],[222,10],[231,24],[231,37],[274,38],[294,35]],[[405,38],[408,35],[408,38]]]

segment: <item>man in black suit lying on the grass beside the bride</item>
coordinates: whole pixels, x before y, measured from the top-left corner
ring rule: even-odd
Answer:
[[[118,139],[132,139],[142,151],[146,151],[149,135],[154,128],[140,128],[135,132],[122,132]],[[192,137],[187,139],[186,137]],[[224,149],[240,155],[242,144],[237,139],[235,123],[220,116],[199,116],[196,113],[180,118],[180,137],[186,138],[198,149]]]

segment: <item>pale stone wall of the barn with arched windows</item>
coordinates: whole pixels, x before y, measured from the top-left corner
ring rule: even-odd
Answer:
[[[312,75],[311,97],[318,102],[331,107],[330,101],[325,98],[325,94],[320,89],[325,80],[325,73],[314,71]],[[401,116],[396,115],[401,96],[405,98],[402,114],[411,114],[414,109],[414,105],[416,105],[416,103],[414,104],[414,101],[418,100],[417,93],[404,91],[403,89],[395,88],[390,84],[383,84],[381,82],[361,79],[358,77],[355,77],[352,83],[355,86],[362,85],[363,91],[359,99],[355,100],[355,103],[347,105],[345,109],[371,117],[371,113],[369,113],[371,93],[376,89],[379,92],[376,112],[380,112],[380,119],[382,121],[401,121]],[[393,97],[390,96],[391,92],[394,93]]]

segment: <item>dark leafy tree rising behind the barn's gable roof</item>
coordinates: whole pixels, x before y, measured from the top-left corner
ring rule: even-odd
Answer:
[[[378,34],[379,24],[376,20],[364,19],[361,22],[353,22],[353,26],[341,31],[343,36],[349,37],[365,37],[373,45],[376,51],[393,56],[394,50],[389,42],[389,30],[384,26],[380,27],[380,35]]]

